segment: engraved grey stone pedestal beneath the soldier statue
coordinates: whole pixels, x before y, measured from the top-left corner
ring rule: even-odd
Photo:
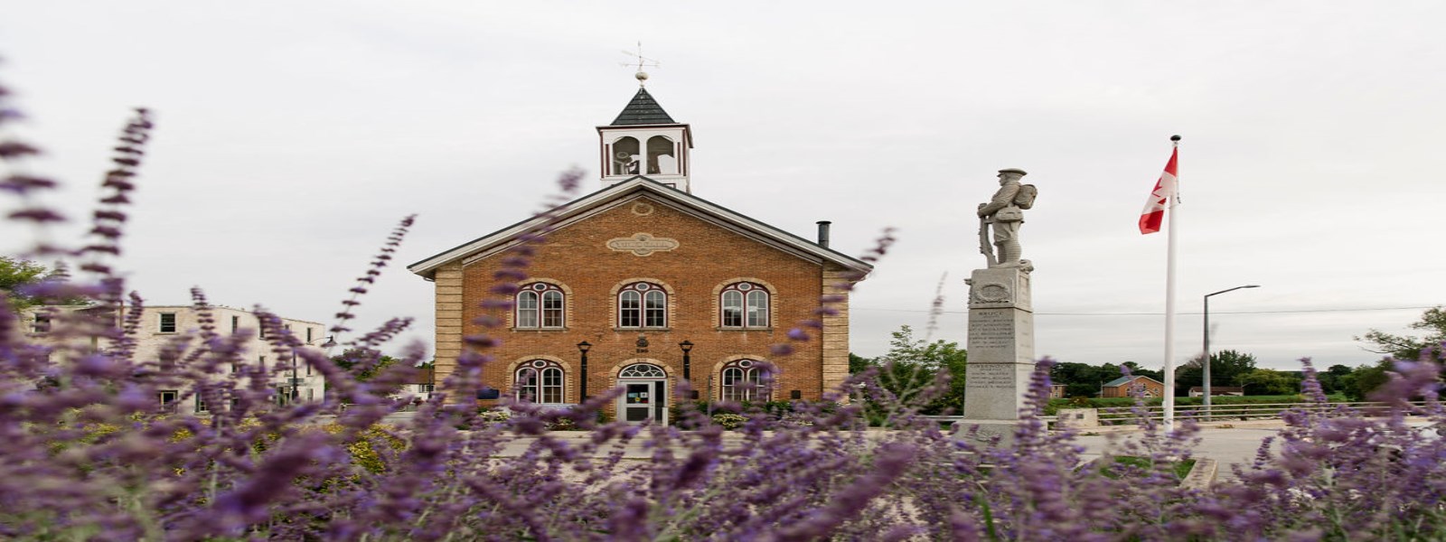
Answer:
[[[1034,308],[1030,267],[976,269],[969,278],[969,366],[964,419],[954,435],[1014,439],[1034,373]],[[972,428],[977,432],[970,435]]]

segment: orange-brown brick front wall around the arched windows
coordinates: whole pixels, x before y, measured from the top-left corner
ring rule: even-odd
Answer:
[[[607,247],[609,240],[638,233],[672,238],[678,246],[646,256]],[[437,272],[438,376],[454,370],[463,334],[483,332],[471,321],[483,314],[479,302],[495,296],[489,289],[496,285],[493,272],[500,269],[503,257],[502,251],[474,254]],[[581,341],[593,344],[589,395],[613,386],[617,369],[635,361],[659,364],[669,376],[681,376],[678,343],[684,340],[694,344],[691,380],[701,396],[709,396],[709,376],[713,376],[711,395],[716,397],[719,370],[740,357],[779,367],[774,399],[788,399],[792,390],[800,390],[804,399],[818,399],[824,386],[847,376],[847,304],[837,304],[840,314],[824,319],[821,340],[810,330],[814,338],[794,343],[794,354],[769,354],[769,345],[785,343],[788,330],[798,321],[816,318],[813,311],[824,285],[839,282],[842,267],[826,269],[811,256],[777,249],[645,195],[620,198],[600,212],[549,233],[536,246],[526,273],[528,280],[545,280],[568,293],[567,325],[562,330],[516,330],[512,314],[499,315],[508,327],[495,331],[502,345],[487,351],[496,361],[484,369],[483,382],[503,392],[512,389],[509,367],[519,360],[558,360],[567,373],[565,402],[577,402],[577,344]],[[668,291],[667,328],[617,328],[616,292],[635,280],[652,280]],[[735,280],[755,282],[771,291],[771,327],[746,331],[720,327],[717,292]],[[646,351],[639,351],[639,335],[648,341]]]

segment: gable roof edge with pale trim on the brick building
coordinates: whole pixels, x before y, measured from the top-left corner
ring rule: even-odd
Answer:
[[[646,194],[656,198],[661,202],[674,204],[678,208],[690,211],[691,214],[700,218],[713,221],[719,225],[750,236],[759,241],[772,244],[774,247],[782,249],[785,251],[792,251],[798,256],[808,256],[820,259],[823,262],[833,262],[843,267],[859,270],[863,273],[868,273],[873,269],[872,264],[862,262],[859,259],[846,256],[843,253],[839,253],[829,247],[823,247],[807,238],[763,224],[755,218],[729,210],[723,205],[710,202],[707,199],[698,198],[696,195],[687,194],[675,188],[669,188],[646,176],[636,175],[633,178],[629,178],[628,181],[619,182],[616,185],[603,188],[597,192],[561,204],[538,215],[508,225],[502,230],[489,233],[471,241],[458,244],[441,253],[418,260],[416,263],[406,266],[406,270],[416,273],[425,279],[431,279],[438,267],[464,257],[470,257],[473,254],[495,250],[503,246],[510,246],[516,243],[516,237],[519,234],[526,233],[528,230],[541,225],[548,220],[552,220],[554,224],[557,224],[557,227],[565,227],[567,224],[576,223],[577,220],[591,215],[594,211],[602,211],[609,208],[609,205],[616,201],[638,194]]]

